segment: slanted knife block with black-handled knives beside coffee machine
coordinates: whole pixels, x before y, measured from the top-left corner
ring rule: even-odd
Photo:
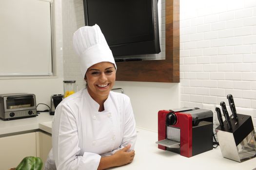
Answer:
[[[221,111],[216,107],[219,126],[215,129],[222,156],[237,162],[256,157],[256,134],[251,116],[236,113],[231,94],[227,95],[232,115],[229,116],[225,102],[220,102]]]

